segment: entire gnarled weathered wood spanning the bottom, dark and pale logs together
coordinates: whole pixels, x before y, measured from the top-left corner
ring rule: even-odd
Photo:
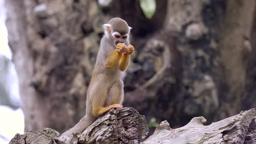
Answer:
[[[144,116],[132,108],[110,110],[98,118],[83,134],[72,137],[57,137],[53,129],[30,131],[25,135],[16,134],[12,143],[245,143],[256,142],[256,110],[242,111],[240,114],[222,121],[203,125],[204,117],[195,117],[184,127],[172,129],[167,121],[156,127],[152,136],[143,141],[148,134]]]

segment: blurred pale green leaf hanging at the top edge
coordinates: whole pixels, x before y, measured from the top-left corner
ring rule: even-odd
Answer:
[[[156,0],[139,0],[139,5],[141,5],[144,15],[151,19],[155,14]]]

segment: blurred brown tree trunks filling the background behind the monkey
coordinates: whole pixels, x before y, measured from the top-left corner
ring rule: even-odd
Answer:
[[[6,1],[26,131],[63,132],[85,115],[102,25],[116,16],[136,49],[124,106],[172,127],[256,107],[255,0],[156,1],[151,19],[139,2]]]

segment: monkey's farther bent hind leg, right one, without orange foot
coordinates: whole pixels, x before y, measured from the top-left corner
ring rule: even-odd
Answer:
[[[122,104],[124,101],[124,82],[121,79],[115,80],[108,92],[105,105]]]

